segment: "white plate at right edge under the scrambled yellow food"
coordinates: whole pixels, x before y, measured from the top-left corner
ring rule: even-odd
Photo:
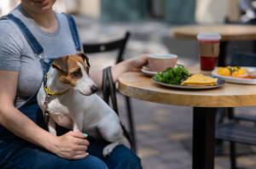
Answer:
[[[247,68],[247,70],[249,71],[256,70],[256,67],[241,67],[241,68]],[[256,84],[256,79],[243,79],[243,78],[236,78],[236,77],[230,77],[230,76],[221,76],[217,74],[217,70],[218,68],[215,70],[212,70],[212,76],[222,78],[226,82],[241,83],[241,84]]]

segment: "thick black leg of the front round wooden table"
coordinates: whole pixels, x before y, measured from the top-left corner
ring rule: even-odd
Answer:
[[[217,108],[195,107],[193,111],[193,169],[213,169]]]

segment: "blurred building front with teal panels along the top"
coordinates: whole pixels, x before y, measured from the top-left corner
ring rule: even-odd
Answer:
[[[7,14],[20,0],[1,0]],[[239,20],[239,0],[57,0],[55,10],[102,22],[159,20],[170,24],[223,23]]]

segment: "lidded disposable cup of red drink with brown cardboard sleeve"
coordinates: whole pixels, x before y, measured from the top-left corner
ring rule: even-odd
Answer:
[[[220,35],[216,32],[202,32],[197,38],[201,70],[214,70],[219,54]]]

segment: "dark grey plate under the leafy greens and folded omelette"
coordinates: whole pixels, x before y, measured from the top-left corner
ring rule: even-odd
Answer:
[[[186,88],[186,89],[207,89],[207,88],[216,88],[216,87],[222,87],[225,84],[225,81],[223,79],[218,78],[217,84],[212,86],[189,86],[189,85],[176,85],[176,84],[168,84],[166,82],[158,82],[157,80],[152,78],[154,82],[165,86],[165,87],[175,87],[175,88]]]

